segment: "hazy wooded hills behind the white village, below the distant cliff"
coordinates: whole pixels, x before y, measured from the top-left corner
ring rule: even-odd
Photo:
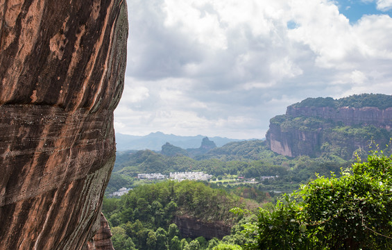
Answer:
[[[325,145],[325,151],[332,151],[331,148]],[[262,140],[230,142],[196,159],[182,155],[164,156],[155,151],[143,150],[119,153],[106,193],[114,192],[121,185],[126,188],[139,185],[140,181],[135,178],[137,174],[169,175],[170,172],[205,172],[213,176],[210,181],[216,178],[222,180],[216,186],[229,185],[231,188],[241,184],[235,179],[251,178],[255,180],[256,184],[253,185],[258,190],[290,192],[298,188],[300,183],[315,178],[315,173],[339,172],[341,167],[348,165],[350,162],[330,154],[319,158],[280,156],[269,150]],[[263,179],[263,176],[275,177]],[[244,181],[242,183],[246,184]],[[274,196],[273,192],[270,195]]]

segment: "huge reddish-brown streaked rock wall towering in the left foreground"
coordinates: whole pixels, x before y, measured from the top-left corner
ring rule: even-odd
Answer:
[[[115,158],[126,1],[0,0],[0,249],[85,249]]]

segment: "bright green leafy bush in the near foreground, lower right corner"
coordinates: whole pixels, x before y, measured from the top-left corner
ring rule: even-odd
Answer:
[[[247,230],[257,242],[246,249],[391,249],[391,209],[392,158],[373,153],[260,209]]]

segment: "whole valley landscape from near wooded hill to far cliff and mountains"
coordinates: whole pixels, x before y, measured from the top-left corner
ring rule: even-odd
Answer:
[[[194,149],[166,142],[160,151],[118,151],[105,194],[130,191],[103,201],[115,249],[248,249],[244,244],[261,244],[244,228],[257,225],[263,213],[271,216],[277,208],[299,206],[284,195],[295,196],[323,178],[346,178],[344,173],[366,162],[371,150],[390,153],[389,116],[377,115],[381,111],[369,115],[368,110],[379,109],[366,106],[379,98],[306,99],[271,119],[266,140],[216,147],[203,138]],[[336,118],[348,100],[362,104],[352,108],[351,120],[350,112],[345,119]],[[355,115],[365,112],[355,108],[367,110],[371,119]],[[389,114],[389,109],[381,113]],[[292,207],[282,205],[287,202]],[[173,230],[176,234],[169,233]]]

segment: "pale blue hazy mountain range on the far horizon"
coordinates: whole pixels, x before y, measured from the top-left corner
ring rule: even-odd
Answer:
[[[162,145],[166,144],[166,142],[169,142],[170,144],[176,147],[180,147],[182,149],[198,149],[201,146],[203,138],[205,138],[205,136],[203,135],[180,136],[173,134],[167,135],[162,132],[150,133],[149,135],[144,136],[124,135],[121,133],[116,133],[117,151],[126,151],[131,149],[150,149],[154,151],[160,151],[162,149]],[[228,142],[241,141],[238,139],[221,137],[213,137],[210,138],[210,140],[215,142],[216,147],[222,147]]]

